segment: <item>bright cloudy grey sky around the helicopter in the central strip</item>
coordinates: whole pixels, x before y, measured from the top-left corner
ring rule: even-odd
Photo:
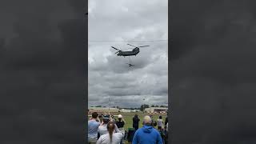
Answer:
[[[110,106],[167,105],[168,42],[132,42],[168,39],[167,6],[167,0],[89,1],[89,106],[109,106],[109,98]],[[130,60],[110,47],[132,48],[127,43],[150,47]]]

